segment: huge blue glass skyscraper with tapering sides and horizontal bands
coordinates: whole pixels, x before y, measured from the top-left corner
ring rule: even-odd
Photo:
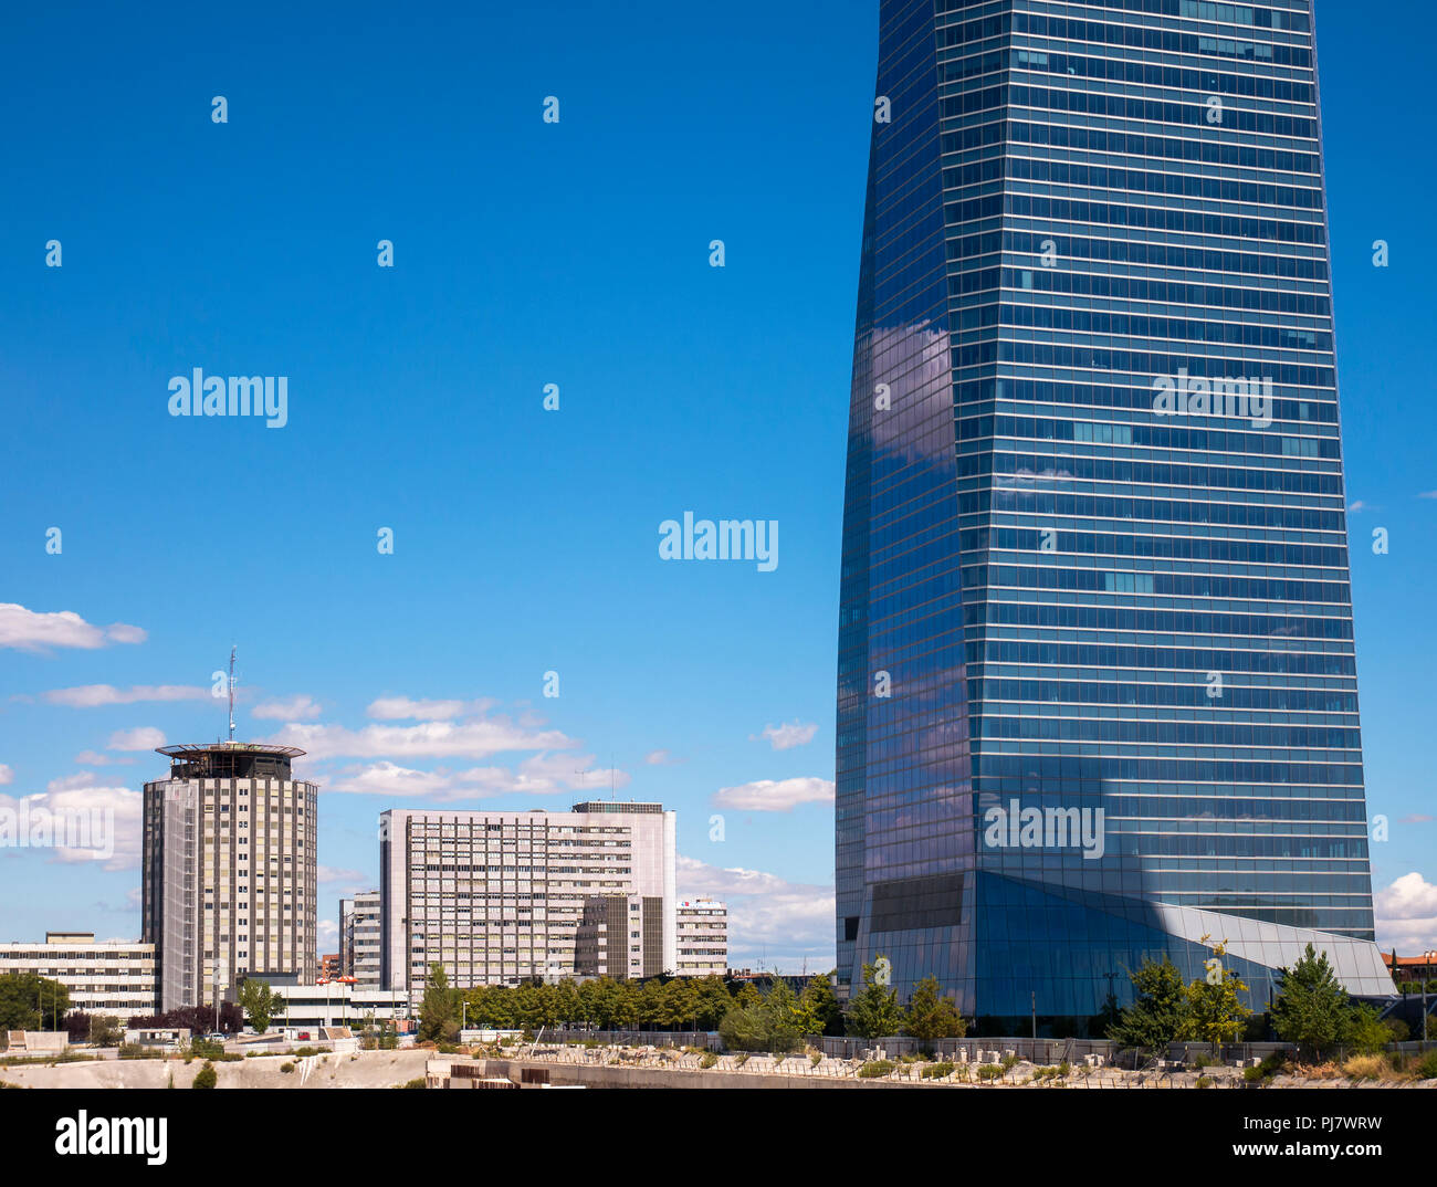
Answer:
[[[884,0],[849,411],[841,990],[1083,1033],[1374,944],[1312,11]],[[992,1030],[989,1030],[992,1033]]]

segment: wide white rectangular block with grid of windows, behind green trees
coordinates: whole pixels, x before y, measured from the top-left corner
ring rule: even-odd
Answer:
[[[417,1000],[433,963],[461,989],[677,969],[677,826],[660,803],[392,809],[379,823],[384,989]]]

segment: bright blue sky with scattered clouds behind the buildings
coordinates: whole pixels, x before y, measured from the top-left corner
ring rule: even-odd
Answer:
[[[121,844],[0,849],[0,940],[138,934],[137,731],[218,736],[237,642],[240,736],[315,756],[320,920],[382,809],[614,767],[678,809],[736,963],[831,959],[877,6],[512,7],[10,17],[0,805],[109,805]],[[1404,22],[1318,16],[1380,938],[1437,946],[1427,72]],[[171,417],[197,366],[287,377],[287,425]],[[777,568],[660,560],[685,510],[777,520]]]

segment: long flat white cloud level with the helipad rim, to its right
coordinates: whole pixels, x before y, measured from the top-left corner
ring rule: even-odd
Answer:
[[[506,750],[562,750],[575,744],[559,730],[525,729],[506,717],[365,726],[361,730],[287,723],[264,740],[299,746],[313,759],[484,759]]]

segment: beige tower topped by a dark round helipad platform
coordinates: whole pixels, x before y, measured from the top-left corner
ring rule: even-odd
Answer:
[[[160,961],[160,1009],[233,1000],[243,974],[315,980],[316,800],[303,750],[216,742],[164,746],[145,783],[142,940]]]

